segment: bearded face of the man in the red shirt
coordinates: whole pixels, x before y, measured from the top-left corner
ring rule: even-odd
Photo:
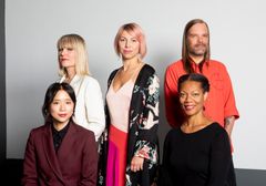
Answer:
[[[208,29],[204,23],[194,24],[187,32],[187,49],[190,55],[204,56],[208,50]]]

